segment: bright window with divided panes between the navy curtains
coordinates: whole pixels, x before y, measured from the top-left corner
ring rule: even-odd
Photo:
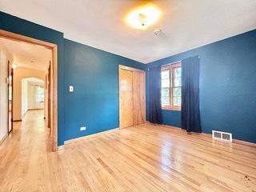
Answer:
[[[182,65],[176,63],[161,69],[162,108],[181,110],[182,106]]]

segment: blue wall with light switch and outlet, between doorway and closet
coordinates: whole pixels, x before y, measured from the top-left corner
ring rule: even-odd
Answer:
[[[78,42],[64,40],[65,138],[119,127],[118,65],[145,65]],[[68,92],[74,86],[74,92]],[[86,126],[85,131],[80,131]]]

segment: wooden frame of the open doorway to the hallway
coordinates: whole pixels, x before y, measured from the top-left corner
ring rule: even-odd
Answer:
[[[58,46],[51,42],[44,42],[36,38],[30,38],[21,34],[14,34],[6,30],[0,30],[0,37],[7,38],[18,42],[27,42],[30,44],[44,46],[52,50],[52,90],[51,105],[51,132],[50,132],[50,146],[53,151],[58,150]]]

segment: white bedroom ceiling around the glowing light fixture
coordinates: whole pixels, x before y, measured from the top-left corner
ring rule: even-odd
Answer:
[[[256,29],[255,0],[158,0],[161,20],[148,30],[126,26],[138,0],[1,0],[0,9],[98,49],[152,62]],[[158,27],[162,34],[153,31]]]

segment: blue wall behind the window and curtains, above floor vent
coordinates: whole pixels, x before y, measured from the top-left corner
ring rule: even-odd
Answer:
[[[199,55],[201,65],[202,131],[222,130],[234,138],[256,142],[256,30],[151,62],[147,67],[194,55]],[[162,110],[162,116],[163,124],[181,126],[179,111]]]

